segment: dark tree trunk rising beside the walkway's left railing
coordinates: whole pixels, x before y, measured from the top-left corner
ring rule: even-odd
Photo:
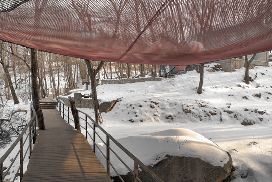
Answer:
[[[43,113],[40,107],[39,101],[39,89],[38,89],[38,62],[37,62],[37,51],[35,49],[31,49],[31,81],[32,81],[32,100],[34,109],[37,114],[38,126],[39,129],[44,130],[44,118]]]

